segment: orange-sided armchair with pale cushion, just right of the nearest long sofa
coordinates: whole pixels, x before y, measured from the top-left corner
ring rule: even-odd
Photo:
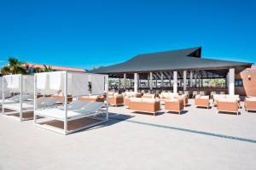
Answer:
[[[183,99],[166,100],[165,111],[173,111],[181,114],[183,111]]]

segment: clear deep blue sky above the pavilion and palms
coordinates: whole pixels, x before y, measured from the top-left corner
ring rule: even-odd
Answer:
[[[0,65],[90,69],[136,54],[202,46],[256,64],[256,1],[0,0]]]

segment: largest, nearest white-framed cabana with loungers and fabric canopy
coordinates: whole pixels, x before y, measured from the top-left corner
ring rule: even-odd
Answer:
[[[84,128],[93,127],[108,122],[108,75],[96,75],[70,71],[55,71],[35,74],[34,99],[38,94],[62,94],[64,102],[58,107],[38,108],[34,101],[34,122],[38,127],[44,127],[56,133],[74,133]],[[89,88],[90,87],[90,88]],[[107,94],[107,102],[88,102],[79,100],[79,96]],[[67,103],[67,96],[72,95],[73,101]],[[45,119],[40,119],[38,117]],[[90,125],[68,128],[69,122],[90,118]],[[45,121],[44,121],[45,120]],[[62,127],[50,126],[50,122],[63,122]]]

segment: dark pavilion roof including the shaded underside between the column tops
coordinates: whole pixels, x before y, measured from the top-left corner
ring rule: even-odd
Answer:
[[[117,65],[101,67],[90,72],[108,74],[109,77],[132,78],[133,73],[140,73],[140,79],[147,79],[148,72],[163,72],[164,77],[173,77],[172,71],[177,71],[177,78],[182,78],[182,71],[199,71],[202,78],[226,77],[230,68],[236,72],[245,70],[252,63],[236,62],[220,59],[201,58],[201,47],[186,48],[137,56]],[[143,75],[143,73],[146,73]],[[160,75],[154,74],[155,78]]]

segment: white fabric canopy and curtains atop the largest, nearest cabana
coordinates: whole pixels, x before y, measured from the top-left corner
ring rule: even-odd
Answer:
[[[89,95],[89,82],[91,82],[91,94],[104,94],[104,81],[108,77],[106,75],[69,71],[43,72],[37,73],[35,76],[38,93],[65,94],[64,88],[65,83],[67,83],[67,94],[73,96]]]

